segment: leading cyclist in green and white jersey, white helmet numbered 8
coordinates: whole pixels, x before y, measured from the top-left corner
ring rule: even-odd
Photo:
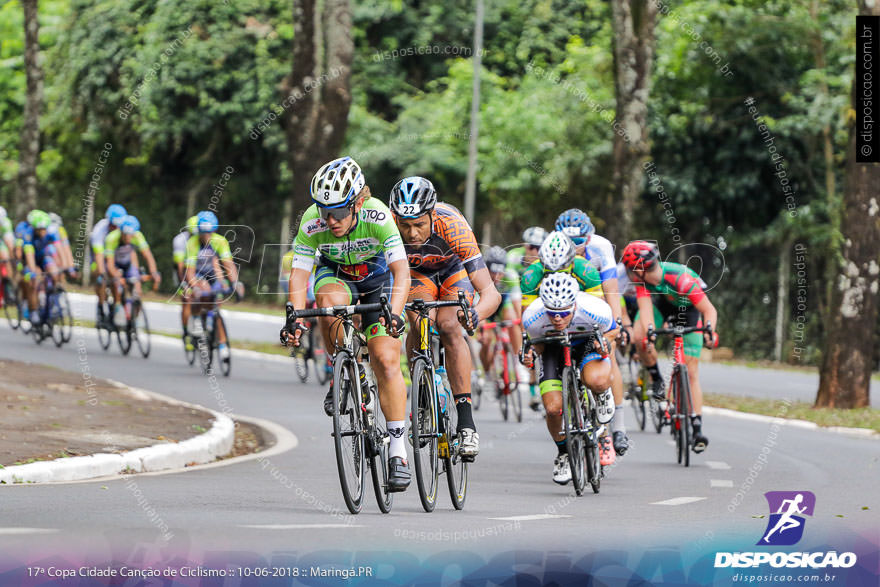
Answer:
[[[382,295],[390,294],[392,324],[386,324],[379,312],[371,312],[363,315],[363,326],[391,439],[389,491],[404,491],[410,483],[404,440],[406,384],[400,370],[402,349],[397,337],[406,324],[403,309],[410,273],[403,241],[391,211],[370,196],[361,168],[351,157],[321,167],[312,178],[311,196],[315,203],[303,214],[294,241],[289,300],[296,310],[306,308],[306,288],[316,252],[320,252],[314,286],[318,307],[376,303]],[[332,318],[319,320],[325,347],[332,353],[342,331],[336,328],[331,332]],[[293,332],[282,329],[282,342],[299,344],[305,329],[303,320],[297,321]],[[324,412],[333,415],[332,382],[324,399]]]

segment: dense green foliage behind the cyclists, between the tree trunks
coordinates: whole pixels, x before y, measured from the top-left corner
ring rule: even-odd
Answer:
[[[403,174],[421,173],[443,199],[460,205],[472,3],[353,4],[347,152],[364,167],[374,195],[384,197]],[[726,326],[724,344],[759,357],[772,351],[781,250],[785,243],[805,243],[811,290],[802,346],[812,359],[834,238],[822,129],[830,129],[839,193],[855,3],[820,2],[818,20],[809,14],[809,0],[659,4],[664,14],[649,112],[657,176],[645,184],[632,236],[657,239],[664,252],[679,242],[711,244],[688,254],[701,256],[707,281],[721,279],[711,295]],[[615,221],[608,3],[501,0],[486,10],[478,234],[510,243],[525,226],[549,227],[572,206],[587,210],[601,233]],[[40,3],[40,14],[46,77],[41,205],[78,217],[98,153],[110,143],[99,214],[111,201],[129,206],[168,269],[187,197],[207,207],[212,186],[232,167],[218,210],[221,222],[253,227],[256,248],[245,276],[255,282],[262,245],[278,240],[278,210],[291,181],[309,179],[291,178],[277,122],[256,140],[249,134],[281,101],[279,84],[291,63],[291,3],[52,0]],[[18,2],[0,6],[3,203],[15,189],[24,101],[21,19]],[[818,39],[824,67],[817,61]],[[749,96],[785,158],[795,215],[744,104]],[[664,214],[658,185],[674,223]],[[672,227],[681,241],[673,240]],[[795,278],[794,267],[791,273]],[[791,315],[796,311],[792,299]]]

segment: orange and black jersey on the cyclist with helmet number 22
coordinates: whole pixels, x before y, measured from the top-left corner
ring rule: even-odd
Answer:
[[[477,237],[461,212],[449,204],[438,203],[431,213],[432,232],[421,245],[405,244],[409,266],[430,273],[461,262],[469,274],[486,266]]]

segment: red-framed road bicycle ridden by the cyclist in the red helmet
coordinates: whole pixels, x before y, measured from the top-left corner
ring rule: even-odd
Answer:
[[[693,428],[691,425],[691,412],[693,401],[691,398],[691,385],[688,380],[687,365],[684,360],[684,335],[691,332],[705,332],[712,334],[712,325],[706,326],[673,326],[671,328],[648,329],[648,340],[653,341],[657,336],[666,335],[673,338],[672,348],[672,373],[669,375],[669,384],[666,389],[668,401],[663,408],[663,422],[669,423],[672,437],[675,439],[675,454],[680,465],[689,467],[691,464],[691,442],[693,441]],[[660,410],[658,409],[658,412]]]

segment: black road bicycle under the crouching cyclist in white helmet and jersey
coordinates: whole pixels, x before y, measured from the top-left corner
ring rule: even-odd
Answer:
[[[590,484],[593,493],[599,493],[604,476],[604,467],[599,463],[599,439],[606,431],[605,425],[599,423],[596,398],[581,383],[580,373],[571,358],[572,344],[580,340],[586,341],[587,348],[593,348],[594,343],[598,342],[601,354],[609,353],[608,342],[599,332],[598,325],[594,325],[592,331],[576,334],[569,334],[566,331],[529,338],[523,333],[523,354],[535,344],[561,346],[563,423],[561,432],[565,435],[571,480],[577,495],[583,494],[587,483]]]

